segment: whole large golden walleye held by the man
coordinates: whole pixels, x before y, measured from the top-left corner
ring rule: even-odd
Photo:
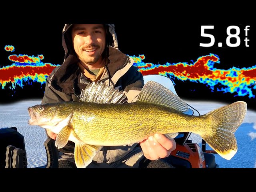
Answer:
[[[58,134],[56,147],[75,143],[75,163],[85,168],[103,146],[141,142],[155,133],[169,138],[178,132],[199,134],[220,156],[230,160],[237,152],[234,132],[243,122],[247,104],[222,106],[201,116],[185,114],[188,105],[154,81],[142,88],[138,100],[127,103],[125,94],[104,83],[89,84],[79,101],[28,108],[28,124]]]

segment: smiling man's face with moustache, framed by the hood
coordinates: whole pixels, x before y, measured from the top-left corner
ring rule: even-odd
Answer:
[[[103,24],[74,24],[72,27],[74,50],[80,60],[96,63],[106,46],[106,30]]]

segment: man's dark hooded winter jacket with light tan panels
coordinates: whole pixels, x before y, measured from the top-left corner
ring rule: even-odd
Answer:
[[[78,58],[74,54],[68,39],[67,29],[69,27],[70,24],[65,24],[63,30],[64,62],[56,67],[46,79],[42,104],[79,100],[81,90],[90,82],[78,68]],[[134,60],[118,49],[114,25],[106,24],[106,30],[108,30],[106,53],[109,63],[106,65],[107,72],[99,81],[113,84],[115,88],[124,91],[128,102],[135,102],[140,90],[144,86],[143,76],[138,72],[138,68],[133,66]],[[128,154],[136,145],[104,146],[93,160],[96,162],[115,162]],[[58,150],[64,153],[74,152],[74,143],[69,141],[64,148]]]

